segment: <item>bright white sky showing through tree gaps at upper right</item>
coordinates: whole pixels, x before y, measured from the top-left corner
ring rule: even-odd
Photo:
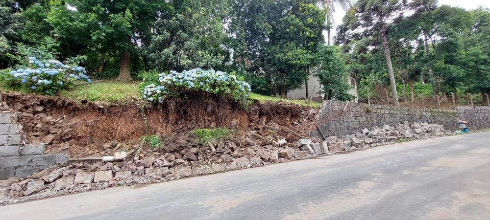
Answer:
[[[462,7],[466,10],[476,9],[478,6],[484,6],[490,8],[490,0],[439,0],[439,5],[447,4],[453,7]],[[336,34],[335,27],[338,24],[342,23],[342,18],[345,15],[345,11],[342,10],[340,5],[335,5],[334,12],[334,23],[335,26],[332,28],[332,39]],[[323,31],[323,35],[325,36],[325,43],[327,43],[327,31]],[[332,40],[333,43],[333,40]]]

